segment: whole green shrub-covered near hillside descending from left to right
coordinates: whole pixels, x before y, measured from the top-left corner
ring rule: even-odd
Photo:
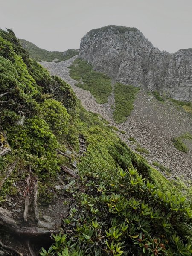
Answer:
[[[87,112],[67,83],[29,58],[12,30],[0,31],[0,100],[0,237],[10,254],[39,255],[37,241],[42,256],[192,254],[189,188],[182,194]],[[70,180],[63,173],[69,168]],[[57,192],[58,177],[67,190]],[[61,227],[52,230],[38,207],[55,193],[66,196],[68,214],[58,215]],[[20,205],[14,215],[10,196]]]

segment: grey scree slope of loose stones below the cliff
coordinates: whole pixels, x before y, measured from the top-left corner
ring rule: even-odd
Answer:
[[[169,167],[171,173],[166,177],[184,177],[186,180],[192,180],[192,143],[188,143],[189,153],[178,151],[172,145],[172,138],[177,137],[185,132],[192,133],[192,118],[184,112],[182,108],[165,100],[164,103],[157,99],[149,99],[147,92],[143,89],[138,93],[134,102],[134,111],[127,121],[123,124],[113,122],[112,110],[113,95],[109,96],[107,104],[99,105],[89,91],[76,87],[76,81],[69,76],[69,67],[77,58],[62,62],[41,62],[53,75],[58,75],[71,85],[76,96],[81,100],[82,105],[87,111],[92,111],[102,115],[119,130],[124,130],[126,134],[118,132],[119,137],[124,140],[133,150],[136,144],[132,144],[128,137],[134,137],[142,147],[148,149],[149,155],[143,154],[145,158],[152,163],[157,161],[164,166]]]

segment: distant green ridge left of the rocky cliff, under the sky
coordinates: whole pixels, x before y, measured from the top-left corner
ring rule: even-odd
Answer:
[[[79,54],[78,50],[75,49],[69,49],[64,52],[47,51],[39,48],[38,46],[29,41],[26,41],[25,39],[20,39],[20,43],[23,48],[29,52],[30,57],[33,58],[35,61],[53,61],[54,59],[58,59],[59,62],[65,61]]]

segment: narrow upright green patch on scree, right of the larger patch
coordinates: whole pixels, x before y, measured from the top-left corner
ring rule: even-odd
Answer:
[[[116,83],[114,86],[115,94],[115,111],[113,119],[116,123],[126,121],[126,117],[130,116],[134,109],[134,99],[140,89],[131,85]]]

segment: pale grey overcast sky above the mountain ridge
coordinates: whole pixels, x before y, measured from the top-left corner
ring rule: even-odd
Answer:
[[[0,28],[47,50],[79,49],[106,25],[136,27],[160,50],[192,48],[192,0],[0,0]]]

